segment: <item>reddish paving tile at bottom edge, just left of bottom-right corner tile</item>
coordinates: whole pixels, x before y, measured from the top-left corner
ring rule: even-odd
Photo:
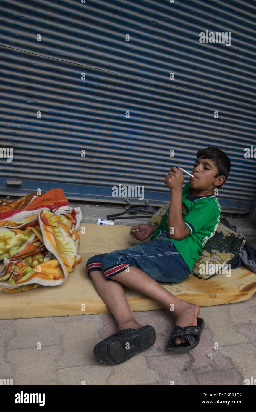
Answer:
[[[235,368],[227,370],[213,370],[212,372],[196,375],[200,385],[205,386],[226,386],[226,385],[240,385],[241,375]],[[207,388],[205,392],[207,392]],[[209,392],[209,391],[208,391]]]

